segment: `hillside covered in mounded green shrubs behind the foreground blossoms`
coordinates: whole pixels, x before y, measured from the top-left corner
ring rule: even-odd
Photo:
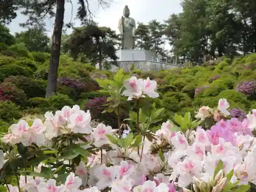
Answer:
[[[24,115],[43,114],[73,104],[90,110],[92,119],[115,126],[115,114],[101,114],[105,108],[102,104],[107,101],[97,92],[99,86],[95,80],[111,78],[112,74],[61,55],[57,94],[45,99],[49,57],[49,54],[28,52],[17,45],[0,55],[1,131],[7,131],[15,119]],[[147,73],[135,69],[132,74],[157,80],[159,105],[168,111],[165,119],[174,113],[194,113],[201,105],[214,107],[219,98],[226,98],[230,109],[238,109],[233,110],[236,116],[256,108],[256,53],[233,60],[221,57],[201,67]]]

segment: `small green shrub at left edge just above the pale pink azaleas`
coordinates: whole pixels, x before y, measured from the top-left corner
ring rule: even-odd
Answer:
[[[0,117],[3,121],[14,123],[14,119],[18,120],[22,117],[19,106],[11,101],[0,101]]]

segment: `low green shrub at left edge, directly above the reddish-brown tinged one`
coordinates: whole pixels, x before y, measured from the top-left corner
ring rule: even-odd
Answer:
[[[25,77],[31,77],[33,71],[26,67],[18,66],[18,65],[5,65],[0,66],[0,81],[3,81],[5,78],[13,75],[23,75]]]

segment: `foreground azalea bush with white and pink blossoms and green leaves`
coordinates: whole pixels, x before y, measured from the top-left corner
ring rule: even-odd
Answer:
[[[154,102],[156,81],[119,71],[98,83],[111,101],[104,113],[116,113],[118,125],[93,125],[78,105],[19,120],[1,142],[7,191],[244,192],[256,184],[256,110],[238,120],[223,98],[195,118],[175,114],[154,133],[166,112]],[[120,130],[123,111],[132,126],[127,134]]]

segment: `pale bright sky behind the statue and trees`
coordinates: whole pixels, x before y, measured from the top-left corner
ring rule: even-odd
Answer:
[[[182,11],[180,6],[181,0],[111,0],[113,1],[109,7],[102,8],[97,3],[98,0],[89,0],[90,10],[94,15],[94,20],[99,26],[110,27],[113,30],[118,31],[118,20],[122,16],[123,8],[127,5],[130,9],[130,16],[135,19],[135,22],[147,24],[152,19],[156,19],[159,22],[167,19],[169,15],[173,13],[179,13]],[[73,1],[76,2],[76,1]],[[78,4],[66,3],[65,6],[65,23],[75,23],[75,27],[80,26],[79,20],[75,19]],[[73,16],[72,16],[73,10]],[[8,26],[10,32],[24,31],[25,29],[19,27],[19,23],[23,23],[27,20],[27,17],[18,13],[18,16]],[[46,19],[46,27],[48,35],[52,35],[54,19]],[[71,33],[72,29],[68,29],[67,33]],[[165,47],[165,46],[164,46]]]

